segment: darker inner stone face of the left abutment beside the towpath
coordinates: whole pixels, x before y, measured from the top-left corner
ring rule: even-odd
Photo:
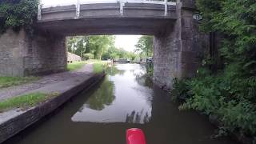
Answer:
[[[58,35],[37,34],[26,37],[24,74],[50,74],[66,70],[66,38]]]

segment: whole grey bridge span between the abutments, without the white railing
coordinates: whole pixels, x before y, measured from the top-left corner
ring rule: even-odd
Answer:
[[[177,19],[176,6],[126,3],[83,4],[43,8],[38,28],[62,35],[77,34],[150,34],[166,31]]]

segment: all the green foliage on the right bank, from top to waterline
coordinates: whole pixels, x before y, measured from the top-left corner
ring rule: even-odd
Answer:
[[[174,98],[189,94],[179,108],[214,116],[222,133],[227,130],[256,137],[256,2],[196,2],[203,15],[201,30],[222,34],[219,55],[216,54],[222,59],[222,68],[203,67],[195,78],[174,82]],[[218,67],[214,54],[206,55],[204,66]]]

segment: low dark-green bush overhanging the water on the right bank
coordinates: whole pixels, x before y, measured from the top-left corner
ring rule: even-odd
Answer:
[[[174,98],[185,98],[180,110],[198,110],[215,115],[222,128],[256,136],[256,77],[242,77],[236,66],[223,72],[200,75],[190,80],[174,80]]]

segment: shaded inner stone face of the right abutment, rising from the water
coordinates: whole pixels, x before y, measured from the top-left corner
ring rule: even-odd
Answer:
[[[177,26],[164,35],[154,36],[154,83],[169,90],[173,78],[181,78],[181,42]]]

